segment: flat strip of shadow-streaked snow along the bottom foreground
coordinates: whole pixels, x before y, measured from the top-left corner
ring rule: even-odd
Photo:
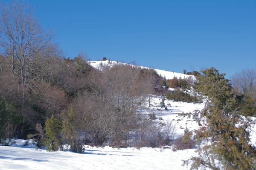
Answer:
[[[195,150],[86,147],[83,154],[0,146],[1,170],[186,170],[182,159]]]

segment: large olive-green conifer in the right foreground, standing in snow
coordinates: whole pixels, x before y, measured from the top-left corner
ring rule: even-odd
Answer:
[[[197,77],[195,91],[208,96],[206,107],[193,116],[198,121],[206,121],[204,127],[196,131],[198,141],[204,141],[184,164],[192,163],[191,169],[210,168],[213,170],[254,170],[256,150],[250,144],[247,128],[250,122],[241,118],[229,80],[215,68],[201,71]]]

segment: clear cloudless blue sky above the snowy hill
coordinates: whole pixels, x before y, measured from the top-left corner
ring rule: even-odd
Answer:
[[[256,0],[29,0],[66,57],[174,72],[256,69]]]

